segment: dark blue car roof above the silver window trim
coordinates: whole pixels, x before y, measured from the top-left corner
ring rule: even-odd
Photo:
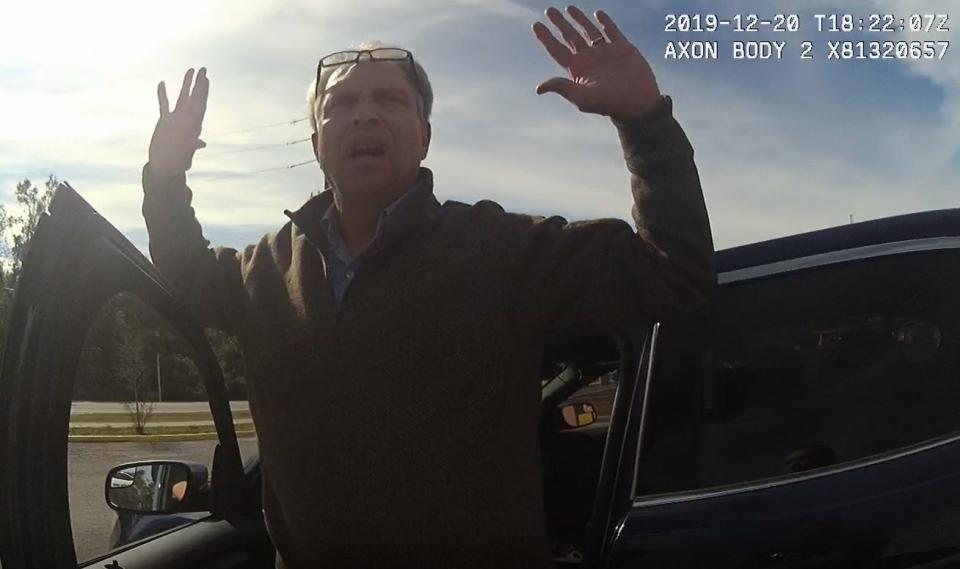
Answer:
[[[897,241],[960,235],[960,209],[898,215],[731,247],[716,253],[717,272]]]

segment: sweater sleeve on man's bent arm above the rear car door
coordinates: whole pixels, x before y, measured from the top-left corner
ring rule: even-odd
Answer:
[[[519,313],[538,334],[663,320],[712,299],[710,224],[693,148],[671,100],[614,124],[631,174],[636,231],[618,219],[505,214]]]

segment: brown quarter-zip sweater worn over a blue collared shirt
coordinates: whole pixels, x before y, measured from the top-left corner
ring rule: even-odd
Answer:
[[[339,308],[319,231],[288,222],[242,251],[211,249],[185,178],[145,167],[154,262],[204,325],[240,337],[267,524],[289,567],[551,566],[545,338],[662,319],[703,303],[715,281],[670,100],[617,127],[638,232],[490,201],[441,206],[423,169],[409,223],[371,252]],[[294,218],[315,224],[331,198]]]

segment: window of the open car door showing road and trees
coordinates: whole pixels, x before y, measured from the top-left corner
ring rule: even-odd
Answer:
[[[229,339],[211,343],[221,366],[236,367]],[[232,406],[238,431],[252,433],[242,376],[228,376],[227,385],[237,399]],[[142,460],[189,461],[209,471],[215,433],[197,359],[183,338],[134,296],[108,301],[84,340],[71,407],[67,474],[78,560],[204,517],[117,513],[107,506],[105,485],[112,467]],[[255,451],[255,438],[240,443],[245,454]],[[171,475],[142,468],[111,482],[117,492],[130,486],[143,494]]]

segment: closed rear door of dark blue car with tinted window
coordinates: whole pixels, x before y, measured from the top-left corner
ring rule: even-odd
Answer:
[[[611,566],[960,563],[960,239],[910,221],[722,273],[708,332],[664,331]]]

